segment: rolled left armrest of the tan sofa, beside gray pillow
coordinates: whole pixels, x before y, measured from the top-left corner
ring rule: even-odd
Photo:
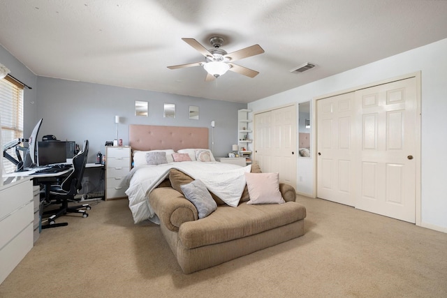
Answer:
[[[161,224],[173,232],[177,232],[186,221],[198,220],[196,207],[170,187],[155,188],[149,194],[149,204],[159,216]]]

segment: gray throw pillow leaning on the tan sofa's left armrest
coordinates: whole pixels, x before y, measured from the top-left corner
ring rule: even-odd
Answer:
[[[193,203],[198,211],[198,218],[205,218],[217,209],[216,202],[212,199],[205,184],[200,180],[194,180],[189,184],[180,186],[187,200]]]

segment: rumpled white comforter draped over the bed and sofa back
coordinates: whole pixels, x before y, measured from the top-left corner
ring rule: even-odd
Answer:
[[[157,223],[158,218],[149,204],[149,193],[169,176],[169,170],[172,168],[188,174],[193,179],[202,180],[209,191],[236,207],[246,183],[244,173],[250,172],[251,165],[240,167],[219,162],[183,161],[134,167],[127,177],[129,188],[126,195],[129,196],[129,208],[135,223],[146,219]]]

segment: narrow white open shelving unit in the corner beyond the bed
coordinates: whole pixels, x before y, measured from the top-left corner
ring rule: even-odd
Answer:
[[[251,119],[249,113],[251,110],[242,109],[237,111],[237,144],[239,146],[239,156],[246,158],[247,164],[251,163],[251,143],[253,142]],[[245,149],[245,150],[244,150]]]

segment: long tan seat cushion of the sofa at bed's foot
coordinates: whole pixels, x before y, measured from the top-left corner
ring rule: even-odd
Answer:
[[[222,205],[200,221],[182,223],[179,240],[185,248],[218,244],[278,228],[306,217],[306,209],[297,202],[284,204]]]

